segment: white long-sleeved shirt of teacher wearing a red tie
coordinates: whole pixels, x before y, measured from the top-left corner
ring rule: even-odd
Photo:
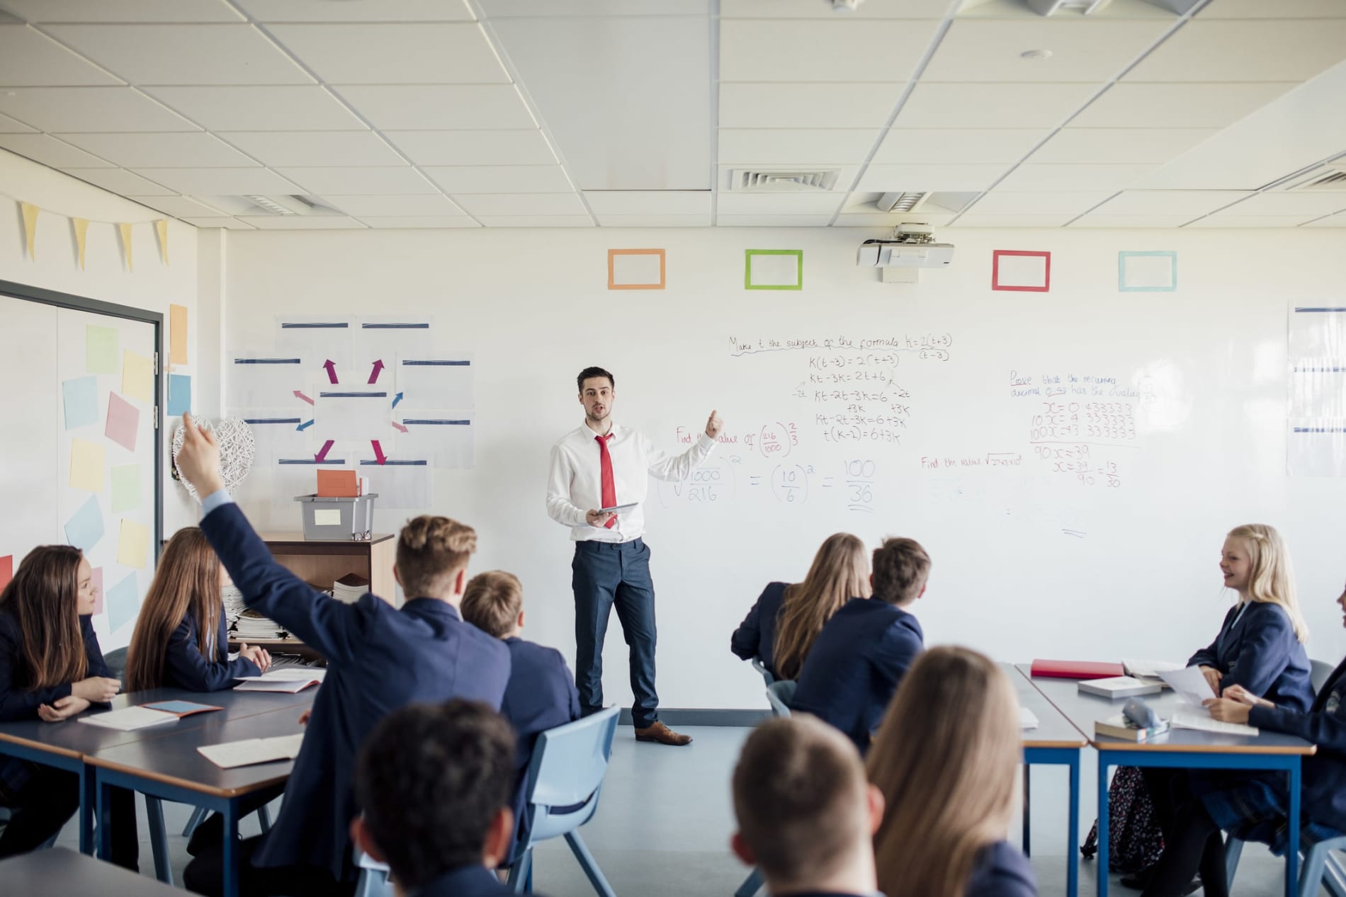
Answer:
[[[616,524],[590,526],[584,512],[603,507],[603,468],[598,433],[580,424],[552,446],[552,471],[546,480],[546,512],[557,523],[571,527],[573,542],[630,542],[645,534],[645,494],[650,476],[661,480],[685,480],[705,461],[715,440],[704,432],[688,451],[669,455],[654,448],[643,434],[629,426],[612,425],[607,451],[612,456],[612,483],[616,503],[637,503],[616,515]]]

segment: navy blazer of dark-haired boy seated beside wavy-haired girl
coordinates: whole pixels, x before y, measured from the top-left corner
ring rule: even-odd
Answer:
[[[923,648],[914,616],[882,598],[851,598],[813,643],[790,709],[832,724],[863,754]]]

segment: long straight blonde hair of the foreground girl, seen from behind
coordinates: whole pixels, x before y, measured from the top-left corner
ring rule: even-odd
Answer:
[[[879,890],[961,897],[977,854],[1008,830],[1019,754],[1004,671],[968,648],[922,654],[868,754],[887,807],[874,836]]]

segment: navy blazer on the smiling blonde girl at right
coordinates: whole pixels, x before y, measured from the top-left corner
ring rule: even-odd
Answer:
[[[1219,635],[1191,655],[1187,666],[1219,670],[1221,690],[1238,685],[1277,706],[1303,713],[1314,702],[1314,685],[1308,655],[1295,637],[1289,615],[1279,604],[1249,601],[1236,623],[1238,607],[1229,609]]]

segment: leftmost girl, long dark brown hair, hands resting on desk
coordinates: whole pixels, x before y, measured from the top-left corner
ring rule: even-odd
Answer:
[[[62,722],[121,690],[93,632],[97,590],[79,549],[43,545],[0,593],[0,721]],[[0,858],[44,845],[79,808],[79,775],[0,754],[0,806],[11,811]],[[135,795],[112,792],[112,861],[137,869]]]

